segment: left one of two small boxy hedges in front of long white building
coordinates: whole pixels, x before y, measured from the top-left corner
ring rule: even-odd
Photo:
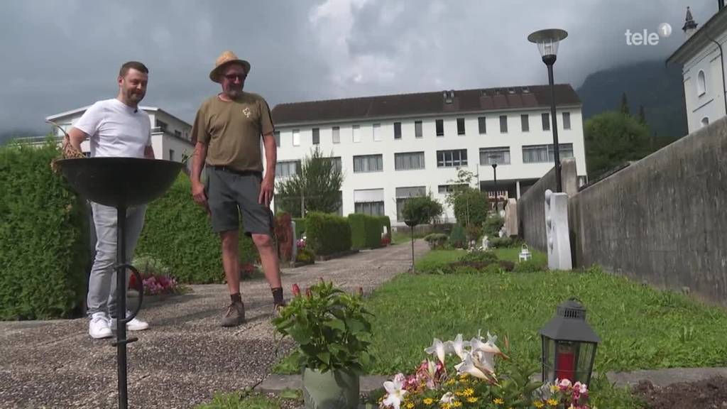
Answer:
[[[346,218],[310,212],[305,215],[305,227],[305,245],[318,255],[351,249],[351,226]]]

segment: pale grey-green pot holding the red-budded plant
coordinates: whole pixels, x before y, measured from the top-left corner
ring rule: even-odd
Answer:
[[[303,370],[306,409],[356,409],[358,392],[358,373],[352,370]]]

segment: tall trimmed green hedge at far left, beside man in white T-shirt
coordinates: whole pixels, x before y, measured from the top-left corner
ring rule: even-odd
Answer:
[[[55,143],[0,148],[0,319],[83,314],[86,202],[50,169]]]

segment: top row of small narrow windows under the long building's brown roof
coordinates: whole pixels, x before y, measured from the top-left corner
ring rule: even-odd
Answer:
[[[563,129],[571,129],[571,113],[563,112]],[[550,130],[550,114],[544,112],[540,115],[542,130]],[[487,121],[485,116],[480,116],[477,119],[478,131],[480,135],[487,133]],[[500,133],[507,133],[507,115],[499,116],[499,128]],[[522,132],[530,132],[530,116],[529,114],[522,114],[520,116],[520,129]],[[361,142],[361,125],[353,125],[351,129],[352,140],[354,143]],[[374,141],[382,140],[381,124],[373,125]],[[438,137],[444,136],[444,120],[435,119],[435,135]],[[457,135],[465,135],[465,119],[457,118]],[[275,132],[276,145],[279,147],[280,132]],[[401,139],[401,122],[394,122],[394,139]],[[424,130],[422,128],[422,121],[414,121],[414,138],[424,138]],[[331,139],[332,143],[341,143],[341,128],[331,128]],[[313,128],[312,140],[313,145],[319,145],[321,143],[321,128]],[[300,130],[293,130],[293,146],[300,146]]]

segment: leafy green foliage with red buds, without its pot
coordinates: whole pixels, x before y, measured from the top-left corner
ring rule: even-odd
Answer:
[[[321,372],[363,370],[370,362],[371,314],[361,294],[345,293],[323,279],[305,295],[294,285],[293,294],[273,325],[295,341],[300,365]]]

